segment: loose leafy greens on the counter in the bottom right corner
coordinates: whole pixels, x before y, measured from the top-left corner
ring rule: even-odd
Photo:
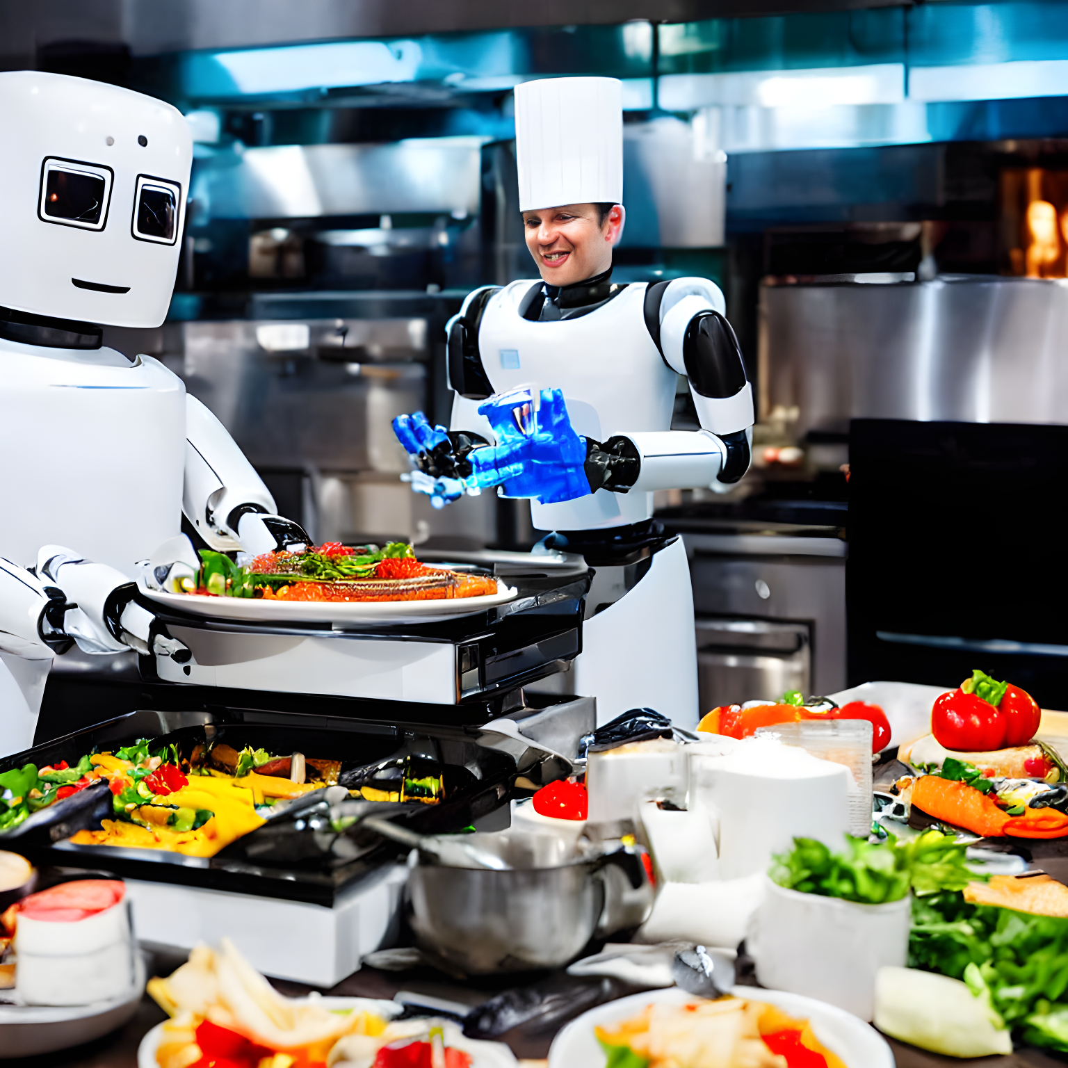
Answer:
[[[909,967],[963,979],[1033,1046],[1068,1052],[1068,920],[943,892],[912,902]]]

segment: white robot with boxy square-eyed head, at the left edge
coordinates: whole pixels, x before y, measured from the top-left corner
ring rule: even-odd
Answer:
[[[222,424],[99,325],[157,327],[185,221],[180,112],[128,90],[0,74],[0,754],[32,744],[53,656],[188,658],[135,603],[216,549],[307,541]],[[158,574],[152,575],[156,570]]]

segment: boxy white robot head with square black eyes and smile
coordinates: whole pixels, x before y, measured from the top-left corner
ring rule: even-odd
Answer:
[[[107,326],[167,316],[192,139],[126,89],[0,74],[0,307]]]

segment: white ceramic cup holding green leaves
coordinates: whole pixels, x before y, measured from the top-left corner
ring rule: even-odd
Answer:
[[[876,973],[885,965],[904,968],[909,955],[911,896],[858,905],[786,890],[765,878],[764,900],[745,939],[760,986],[816,998],[870,1020]]]

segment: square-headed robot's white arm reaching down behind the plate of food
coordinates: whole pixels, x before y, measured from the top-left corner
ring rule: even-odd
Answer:
[[[186,471],[182,511],[213,549],[253,555],[310,544],[298,523],[276,514],[274,499],[226,428],[186,394]]]

